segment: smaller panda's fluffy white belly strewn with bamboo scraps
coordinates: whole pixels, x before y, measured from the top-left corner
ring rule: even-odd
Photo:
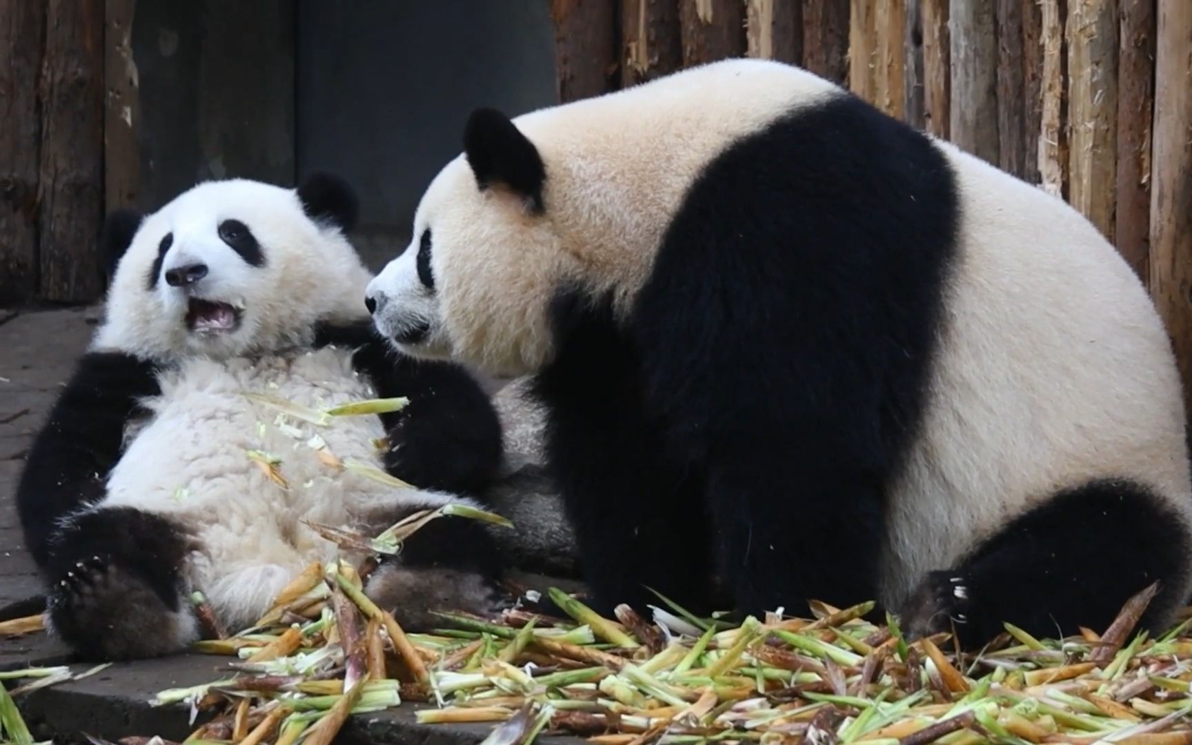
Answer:
[[[328,465],[312,447],[325,443],[341,461],[379,468],[373,440],[385,433],[377,416],[331,417],[317,426],[244,396],[310,409],[374,397],[346,352],[192,360],[164,373],[161,387],[150,402],[151,420],[130,433],[104,504],[168,515],[193,532],[187,579],[225,617],[257,613],[306,564],[336,555],[305,521],[378,530],[410,495]],[[316,435],[321,442],[311,441]],[[250,451],[280,459],[275,467],[286,485],[272,480]]]

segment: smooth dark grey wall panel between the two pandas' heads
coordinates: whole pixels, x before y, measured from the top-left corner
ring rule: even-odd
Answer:
[[[473,107],[514,116],[555,101],[547,5],[299,0],[298,174],[334,169],[356,185],[370,263],[409,241]]]

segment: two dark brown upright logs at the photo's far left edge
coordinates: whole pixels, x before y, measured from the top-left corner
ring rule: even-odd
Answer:
[[[0,306],[103,286],[104,2],[0,0]]]

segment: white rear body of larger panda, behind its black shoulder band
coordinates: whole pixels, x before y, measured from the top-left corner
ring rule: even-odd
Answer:
[[[890,602],[1088,480],[1134,479],[1192,523],[1180,381],[1130,267],[1057,199],[937,144],[957,176],[961,244],[921,437],[889,501]]]

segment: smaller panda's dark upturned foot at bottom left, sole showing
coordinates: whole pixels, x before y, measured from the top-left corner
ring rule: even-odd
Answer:
[[[170,607],[112,557],[67,563],[46,592],[49,628],[85,658],[126,660],[176,652],[198,638],[181,592]]]

